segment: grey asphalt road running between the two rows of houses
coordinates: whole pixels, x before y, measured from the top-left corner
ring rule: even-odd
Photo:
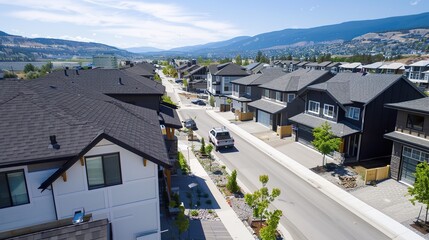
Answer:
[[[196,132],[205,138],[211,127],[219,126],[202,107],[179,111],[184,118],[196,117]],[[236,147],[215,154],[229,169],[237,170],[238,179],[250,191],[260,187],[259,175],[270,177],[268,187],[278,187],[282,192],[273,205],[283,211],[281,224],[294,239],[389,239],[245,140],[232,135]]]

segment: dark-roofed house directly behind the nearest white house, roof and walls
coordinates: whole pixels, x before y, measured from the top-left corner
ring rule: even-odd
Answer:
[[[162,84],[119,69],[55,71],[34,81],[45,85],[65,85],[76,92],[99,92],[125,103],[155,110],[169,133],[165,142],[170,158],[177,158],[174,131],[182,128],[182,124],[175,109],[162,102],[161,97],[165,93]]]

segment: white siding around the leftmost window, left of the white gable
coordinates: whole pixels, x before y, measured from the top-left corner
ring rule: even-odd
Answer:
[[[46,189],[42,193],[38,187],[55,170],[29,173],[27,167],[24,166],[1,169],[0,171],[16,169],[24,169],[30,203],[0,209],[0,231],[54,221],[56,216],[52,192]]]

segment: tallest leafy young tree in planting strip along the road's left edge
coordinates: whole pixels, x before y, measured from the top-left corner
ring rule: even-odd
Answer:
[[[280,196],[281,192],[278,188],[273,188],[271,193],[269,192],[266,187],[269,181],[268,175],[259,176],[259,181],[262,183],[262,187],[253,193],[247,193],[244,200],[253,209],[253,217],[260,218],[262,226],[262,219],[272,214],[268,210],[268,206]]]

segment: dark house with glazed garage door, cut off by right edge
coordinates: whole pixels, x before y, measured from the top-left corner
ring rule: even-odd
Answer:
[[[395,129],[384,135],[393,142],[390,176],[412,185],[417,164],[429,161],[429,98],[385,107],[397,112]]]

